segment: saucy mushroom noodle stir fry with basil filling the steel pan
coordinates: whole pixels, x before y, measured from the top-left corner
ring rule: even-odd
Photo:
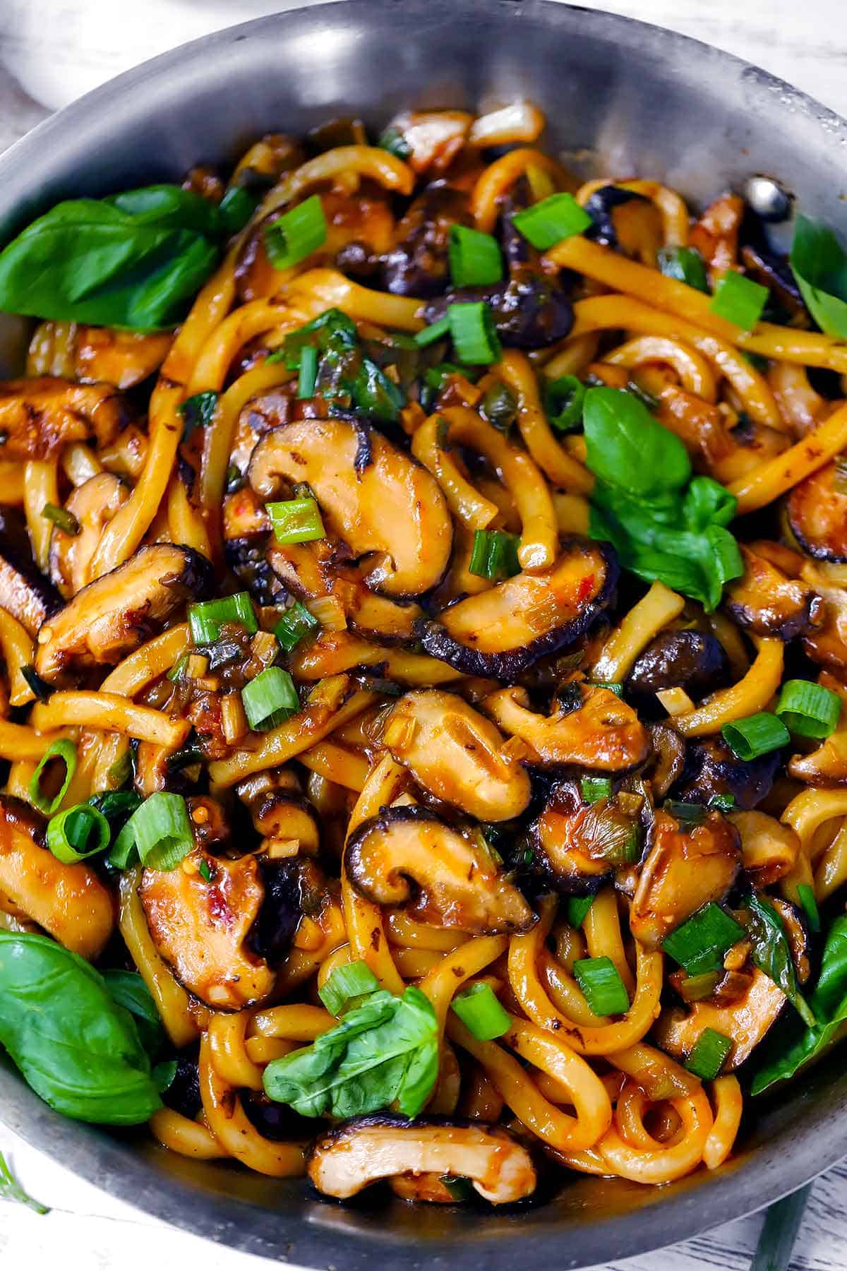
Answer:
[[[844,255],[542,128],[0,254],[0,1043],[67,1116],[499,1205],[717,1168],[844,1028]]]

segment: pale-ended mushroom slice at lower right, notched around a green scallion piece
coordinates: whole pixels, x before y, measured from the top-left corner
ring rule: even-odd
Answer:
[[[787,1000],[782,989],[754,967],[747,991],[730,1005],[695,1002],[691,1010],[676,1007],[663,1010],[653,1026],[653,1036],[662,1050],[687,1059],[705,1030],[714,1028],[733,1042],[724,1061],[724,1071],[733,1071],[749,1059]]]

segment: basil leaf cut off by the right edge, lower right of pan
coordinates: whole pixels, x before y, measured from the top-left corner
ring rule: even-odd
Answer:
[[[753,1078],[753,1094],[762,1094],[794,1077],[847,1035],[847,916],[837,918],[827,933],[820,975],[809,1007],[820,1023],[805,1028],[784,1049],[771,1054]]]

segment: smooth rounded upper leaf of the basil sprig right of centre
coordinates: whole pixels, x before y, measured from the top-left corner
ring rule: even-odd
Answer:
[[[676,491],[691,477],[686,447],[624,389],[592,388],[583,405],[587,463],[629,494]]]

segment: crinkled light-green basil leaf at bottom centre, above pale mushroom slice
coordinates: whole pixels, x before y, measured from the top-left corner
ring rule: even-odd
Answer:
[[[403,1113],[415,1116],[437,1075],[436,1013],[410,986],[401,998],[371,994],[311,1046],[273,1060],[264,1089],[301,1116],[359,1116],[395,1101]]]

